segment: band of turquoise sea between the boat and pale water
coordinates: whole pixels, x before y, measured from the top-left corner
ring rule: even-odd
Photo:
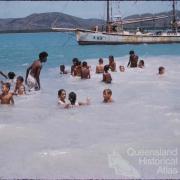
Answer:
[[[157,55],[180,55],[180,44],[158,45],[93,45],[79,46],[74,33],[22,33],[0,35],[0,69],[24,72],[25,66],[38,58],[41,51],[49,53],[45,68],[71,64],[72,58],[80,60],[122,57],[134,49],[141,58]]]

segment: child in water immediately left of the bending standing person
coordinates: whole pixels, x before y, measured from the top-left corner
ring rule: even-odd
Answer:
[[[16,80],[16,86],[14,89],[14,95],[24,95],[26,94],[25,86],[23,84],[24,78],[22,76],[18,76]]]

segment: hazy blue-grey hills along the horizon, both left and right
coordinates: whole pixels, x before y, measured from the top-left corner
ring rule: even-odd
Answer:
[[[177,17],[180,19],[180,11],[177,11]],[[141,22],[131,25],[125,25],[125,28],[133,29],[136,27],[144,28],[158,28],[158,27],[170,27],[172,12],[158,13],[158,14],[136,14],[128,16],[128,18],[139,18],[147,16],[157,15],[168,15],[169,18],[158,20],[155,22]],[[24,18],[8,18],[0,19],[0,32],[8,31],[42,31],[51,30],[51,27],[62,27],[62,28],[84,28],[92,29],[96,25],[101,27],[105,24],[104,20],[101,19],[83,19],[75,16],[70,16],[63,13],[51,12],[51,13],[40,13],[32,14]]]

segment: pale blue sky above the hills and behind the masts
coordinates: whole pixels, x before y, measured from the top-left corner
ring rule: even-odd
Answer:
[[[25,17],[32,13],[62,12],[81,18],[105,19],[105,1],[0,1],[0,18]],[[126,17],[132,14],[170,11],[170,1],[115,1],[114,15]],[[177,3],[180,9],[180,2]]]

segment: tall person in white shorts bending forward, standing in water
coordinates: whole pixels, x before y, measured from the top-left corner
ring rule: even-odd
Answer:
[[[47,61],[48,53],[41,52],[39,59],[35,60],[26,71],[25,83],[29,87],[29,90],[40,90],[40,73],[42,69],[42,63]]]

